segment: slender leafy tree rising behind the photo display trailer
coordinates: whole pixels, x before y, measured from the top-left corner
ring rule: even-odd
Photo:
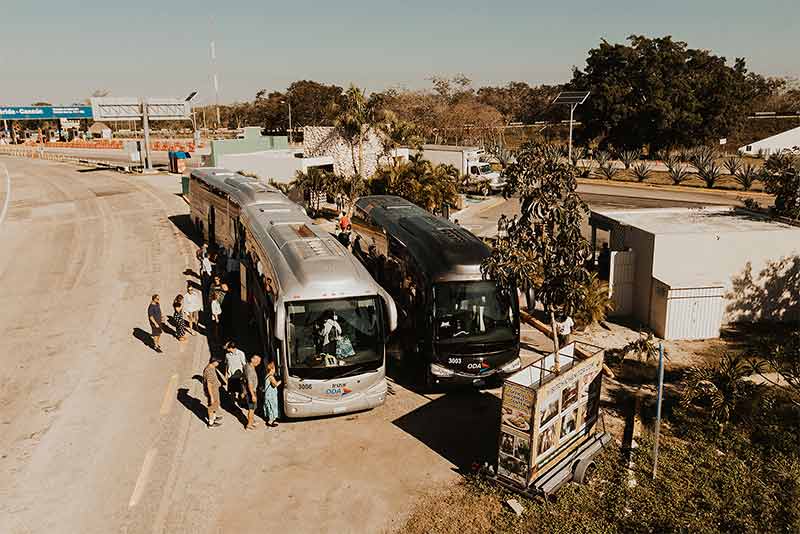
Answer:
[[[503,285],[535,291],[550,316],[558,353],[555,314],[578,309],[590,278],[585,264],[591,247],[581,234],[589,210],[577,193],[578,169],[556,147],[526,143],[505,175],[503,195],[519,197],[520,215],[500,218],[499,237],[482,269]]]

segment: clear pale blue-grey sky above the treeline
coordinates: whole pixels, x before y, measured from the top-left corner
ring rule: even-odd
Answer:
[[[368,92],[463,73],[558,83],[602,39],[672,35],[800,75],[797,0],[0,0],[0,105],[111,96],[251,100],[311,79]],[[210,41],[215,42],[216,66]]]

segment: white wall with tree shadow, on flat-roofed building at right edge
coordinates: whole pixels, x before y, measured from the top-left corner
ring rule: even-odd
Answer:
[[[720,283],[725,322],[797,319],[800,228],[658,235],[652,276]]]

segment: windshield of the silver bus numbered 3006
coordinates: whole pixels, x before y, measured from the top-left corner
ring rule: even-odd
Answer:
[[[383,364],[383,318],[375,296],[289,302],[289,373],[332,379]]]

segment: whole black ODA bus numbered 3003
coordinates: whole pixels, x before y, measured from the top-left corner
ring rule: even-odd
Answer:
[[[483,278],[483,241],[395,196],[360,198],[351,224],[353,252],[401,310],[402,353],[424,365],[427,386],[520,369],[517,292]]]

